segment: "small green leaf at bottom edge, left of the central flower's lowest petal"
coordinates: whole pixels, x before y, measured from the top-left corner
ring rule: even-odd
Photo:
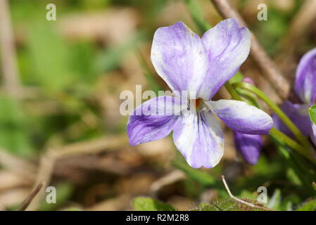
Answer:
[[[171,205],[147,197],[134,198],[132,205],[137,211],[176,211]]]

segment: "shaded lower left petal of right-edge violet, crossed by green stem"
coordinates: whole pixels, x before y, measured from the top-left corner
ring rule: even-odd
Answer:
[[[293,104],[290,101],[284,101],[280,108],[305,136],[310,134],[311,127],[307,104]],[[279,119],[277,115],[272,115],[272,118],[275,128],[279,129],[287,136],[293,137],[292,132],[288,127],[286,127],[286,125],[282,122],[282,120]]]

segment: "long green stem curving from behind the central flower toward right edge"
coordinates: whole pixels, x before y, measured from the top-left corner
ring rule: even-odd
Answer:
[[[253,92],[256,96],[263,100],[274,111],[274,113],[277,114],[280,120],[282,120],[282,122],[284,122],[284,124],[289,127],[294,136],[296,136],[296,139],[298,139],[298,141],[300,141],[305,148],[308,148],[305,149],[305,152],[310,152],[309,150],[312,149],[312,147],[310,146],[308,139],[301,133],[296,125],[293,124],[289,117],[287,117],[285,113],[283,113],[283,111],[273,101],[271,101],[270,98],[265,95],[265,93],[263,93],[263,91],[248,83],[235,83],[233,88],[246,89]]]

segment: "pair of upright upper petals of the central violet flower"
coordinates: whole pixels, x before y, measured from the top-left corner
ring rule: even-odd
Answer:
[[[196,91],[208,101],[239,70],[250,50],[250,32],[234,19],[222,20],[202,39],[182,22],[159,28],[151,61],[172,91]]]

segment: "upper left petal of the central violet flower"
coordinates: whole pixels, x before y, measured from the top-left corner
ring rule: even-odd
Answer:
[[[195,91],[195,95],[208,70],[202,39],[182,22],[156,31],[151,61],[172,91]]]

